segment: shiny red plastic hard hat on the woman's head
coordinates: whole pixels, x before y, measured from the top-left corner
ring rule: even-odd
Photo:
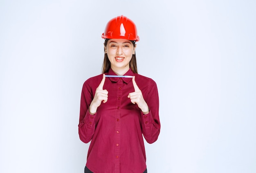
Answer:
[[[135,42],[139,41],[136,25],[123,15],[111,19],[101,37],[104,39],[128,39]]]

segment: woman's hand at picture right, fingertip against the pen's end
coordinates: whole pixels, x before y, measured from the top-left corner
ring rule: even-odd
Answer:
[[[143,114],[148,114],[148,105],[143,98],[141,90],[139,89],[137,83],[135,82],[135,76],[132,78],[132,84],[135,92],[130,92],[128,94],[128,98],[131,99],[131,102],[133,104],[137,103],[138,107],[141,109],[141,112],[143,112]]]

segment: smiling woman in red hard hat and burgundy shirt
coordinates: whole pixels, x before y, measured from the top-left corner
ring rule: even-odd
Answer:
[[[110,20],[102,38],[103,74],[86,80],[81,94],[79,137],[91,141],[85,173],[147,173],[143,136],[153,143],[160,132],[157,85],[137,73],[130,19]]]

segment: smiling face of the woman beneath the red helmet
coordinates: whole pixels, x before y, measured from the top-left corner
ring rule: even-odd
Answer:
[[[127,39],[110,39],[105,47],[113,71],[127,72],[130,68],[129,62],[132,54],[135,53],[135,47]]]

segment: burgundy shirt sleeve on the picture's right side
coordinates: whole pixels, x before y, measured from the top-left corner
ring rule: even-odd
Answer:
[[[157,140],[160,133],[159,120],[159,96],[157,85],[153,80],[149,80],[148,93],[144,94],[144,99],[148,104],[149,113],[142,116],[142,133],[148,143],[153,143]]]

